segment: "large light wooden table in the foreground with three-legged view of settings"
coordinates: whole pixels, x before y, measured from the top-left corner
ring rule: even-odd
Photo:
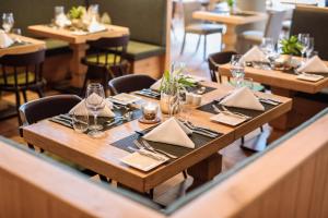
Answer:
[[[207,83],[207,85],[216,87],[218,89],[204,94],[202,104],[208,104],[220,96],[224,96],[231,89],[231,86],[226,85],[214,83]],[[66,126],[44,120],[25,126],[24,138],[33,145],[92,169],[139,192],[147,192],[185,169],[188,169],[188,173],[194,177],[194,185],[196,186],[213,179],[220,173],[221,156],[218,154],[218,150],[291,109],[291,99],[279,96],[270,97],[280,100],[282,104],[237,128],[213,123],[210,121],[210,117],[213,116],[212,113],[192,109],[189,119],[191,122],[221,132],[223,136],[150,172],[141,172],[124,165],[119,159],[129,153],[110,145],[132,134],[133,131],[150,128],[150,125],[141,124],[137,120],[110,129],[105,132],[106,136],[104,138],[97,140],[91,138],[86,134],[78,134]],[[147,100],[154,101],[153,99]]]

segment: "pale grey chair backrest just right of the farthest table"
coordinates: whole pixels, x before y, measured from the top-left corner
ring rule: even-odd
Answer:
[[[269,11],[269,19],[265,31],[265,37],[270,37],[276,44],[279,39],[279,35],[282,29],[282,22],[286,13],[285,10],[282,11]]]

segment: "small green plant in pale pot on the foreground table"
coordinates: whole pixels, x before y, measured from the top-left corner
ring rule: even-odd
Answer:
[[[173,68],[174,69],[174,68]],[[184,68],[165,71],[161,80],[160,107],[163,113],[174,114],[179,111],[179,97],[187,87],[196,86],[190,76],[185,75]]]

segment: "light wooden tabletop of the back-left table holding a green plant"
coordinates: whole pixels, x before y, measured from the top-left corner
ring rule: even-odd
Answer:
[[[102,37],[115,37],[129,34],[129,28],[115,25],[105,25],[107,31],[86,35],[74,35],[73,32],[65,28],[51,27],[48,25],[28,26],[30,33],[36,36],[61,39],[70,44],[85,44],[86,40],[96,40]]]

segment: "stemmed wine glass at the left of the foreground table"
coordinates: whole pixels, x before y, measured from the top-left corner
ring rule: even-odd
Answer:
[[[85,106],[94,117],[94,124],[89,128],[91,131],[87,133],[92,137],[104,134],[99,131],[103,126],[97,124],[97,116],[105,108],[105,101],[104,87],[99,83],[91,83],[86,88]]]

